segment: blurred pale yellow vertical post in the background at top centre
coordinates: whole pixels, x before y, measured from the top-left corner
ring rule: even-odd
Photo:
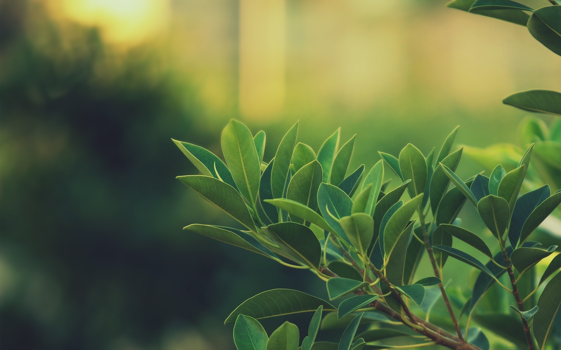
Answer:
[[[286,0],[240,0],[240,112],[273,118],[284,104]]]

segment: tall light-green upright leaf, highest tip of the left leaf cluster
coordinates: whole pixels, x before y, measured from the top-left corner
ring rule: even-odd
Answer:
[[[255,150],[250,130],[232,119],[222,131],[222,153],[240,193],[251,206],[259,193],[261,162]]]

